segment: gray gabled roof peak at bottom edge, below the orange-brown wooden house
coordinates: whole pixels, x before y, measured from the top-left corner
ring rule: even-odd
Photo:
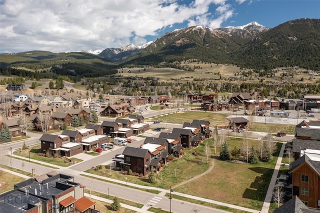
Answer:
[[[308,207],[304,205],[304,203],[299,199],[298,196],[294,196],[291,199],[289,199],[287,202],[285,202],[283,205],[278,207],[277,209],[272,211],[273,213],[305,213],[305,212],[311,212],[309,211]]]

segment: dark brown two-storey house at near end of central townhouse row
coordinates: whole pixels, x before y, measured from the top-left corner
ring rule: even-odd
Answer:
[[[150,172],[151,153],[149,149],[125,146],[123,169],[146,176]]]

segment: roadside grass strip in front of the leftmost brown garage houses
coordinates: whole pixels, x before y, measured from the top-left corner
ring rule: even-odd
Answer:
[[[74,164],[76,162],[81,162],[81,159],[77,159],[74,157],[46,157],[46,156],[39,156],[37,155],[41,150],[40,145],[35,145],[35,146],[31,146],[30,147],[30,158],[31,159],[35,159],[35,160],[39,160],[42,162],[47,162],[47,163],[51,163],[54,165],[59,165],[59,166],[69,166],[71,164]],[[29,152],[28,149],[19,149],[13,152],[16,155],[22,156],[22,157],[29,157]],[[69,159],[71,161],[69,161]]]

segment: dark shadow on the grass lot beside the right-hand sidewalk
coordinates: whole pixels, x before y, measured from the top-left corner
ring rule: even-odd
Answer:
[[[262,175],[255,177],[254,181],[250,184],[250,188],[246,188],[244,190],[242,197],[258,201],[264,201],[264,197],[269,187],[273,169],[264,167],[252,167],[249,169]]]

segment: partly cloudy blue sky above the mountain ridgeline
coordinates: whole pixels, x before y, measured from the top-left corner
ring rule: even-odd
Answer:
[[[274,27],[319,11],[320,0],[0,0],[0,53],[141,45],[175,28]]]

